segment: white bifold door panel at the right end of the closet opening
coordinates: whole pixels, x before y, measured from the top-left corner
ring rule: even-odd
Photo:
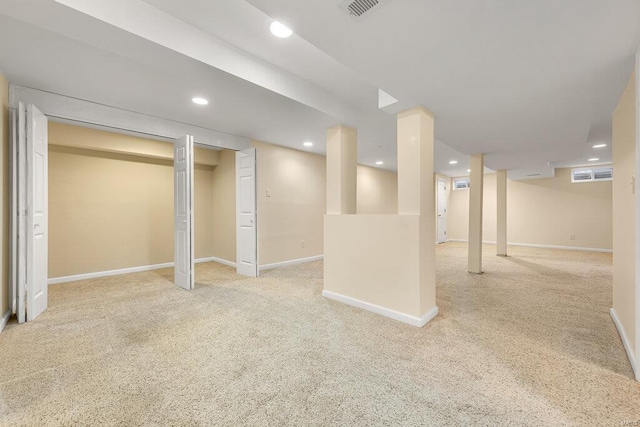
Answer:
[[[256,149],[236,152],[236,269],[244,276],[258,276],[258,227],[256,215]]]

